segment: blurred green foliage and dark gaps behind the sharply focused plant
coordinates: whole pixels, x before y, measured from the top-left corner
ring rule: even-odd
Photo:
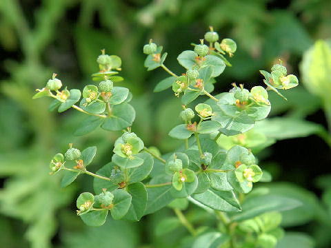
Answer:
[[[221,39],[234,39],[238,49],[233,66],[219,77],[215,93],[230,90],[233,82],[248,88],[262,85],[259,70],[269,70],[278,59],[300,81],[303,53],[317,39],[331,37],[330,10],[329,0],[1,0],[0,247],[176,247],[185,233],[180,229],[171,240],[170,235],[155,234],[156,223],[171,215],[168,209],[139,223],[109,220],[103,227],[83,225],[74,214],[74,202],[80,192],[92,192],[92,179],[81,176],[60,189],[61,176],[49,176],[48,161],[68,143],[80,149],[97,144],[97,159],[91,165],[96,171],[110,161],[119,134],[97,130],[75,137],[83,114],[48,112],[50,99],[32,101],[34,90],[44,87],[53,72],[63,85],[82,90],[98,70],[95,61],[101,49],[121,56],[125,78],[121,84],[134,94],[137,111],[132,129],[147,145],[169,152],[180,145],[167,134],[180,123],[181,104],[171,90],[152,92],[167,74],[146,72],[143,67],[142,48],[150,38],[163,45],[168,52],[165,65],[177,74],[183,73],[178,54],[199,42],[209,25]],[[290,116],[327,128],[323,100],[302,84],[287,96],[285,102],[271,94],[271,116]],[[302,138],[263,149],[260,163],[274,180],[290,181],[322,197],[330,212],[331,183],[325,176],[330,173],[330,136],[314,131],[293,136]],[[305,194],[317,202],[310,192]],[[188,218],[203,225],[213,221],[194,207]],[[330,230],[330,220],[311,218],[302,224],[290,230],[310,234],[318,247],[330,247],[330,231],[325,230]]]

